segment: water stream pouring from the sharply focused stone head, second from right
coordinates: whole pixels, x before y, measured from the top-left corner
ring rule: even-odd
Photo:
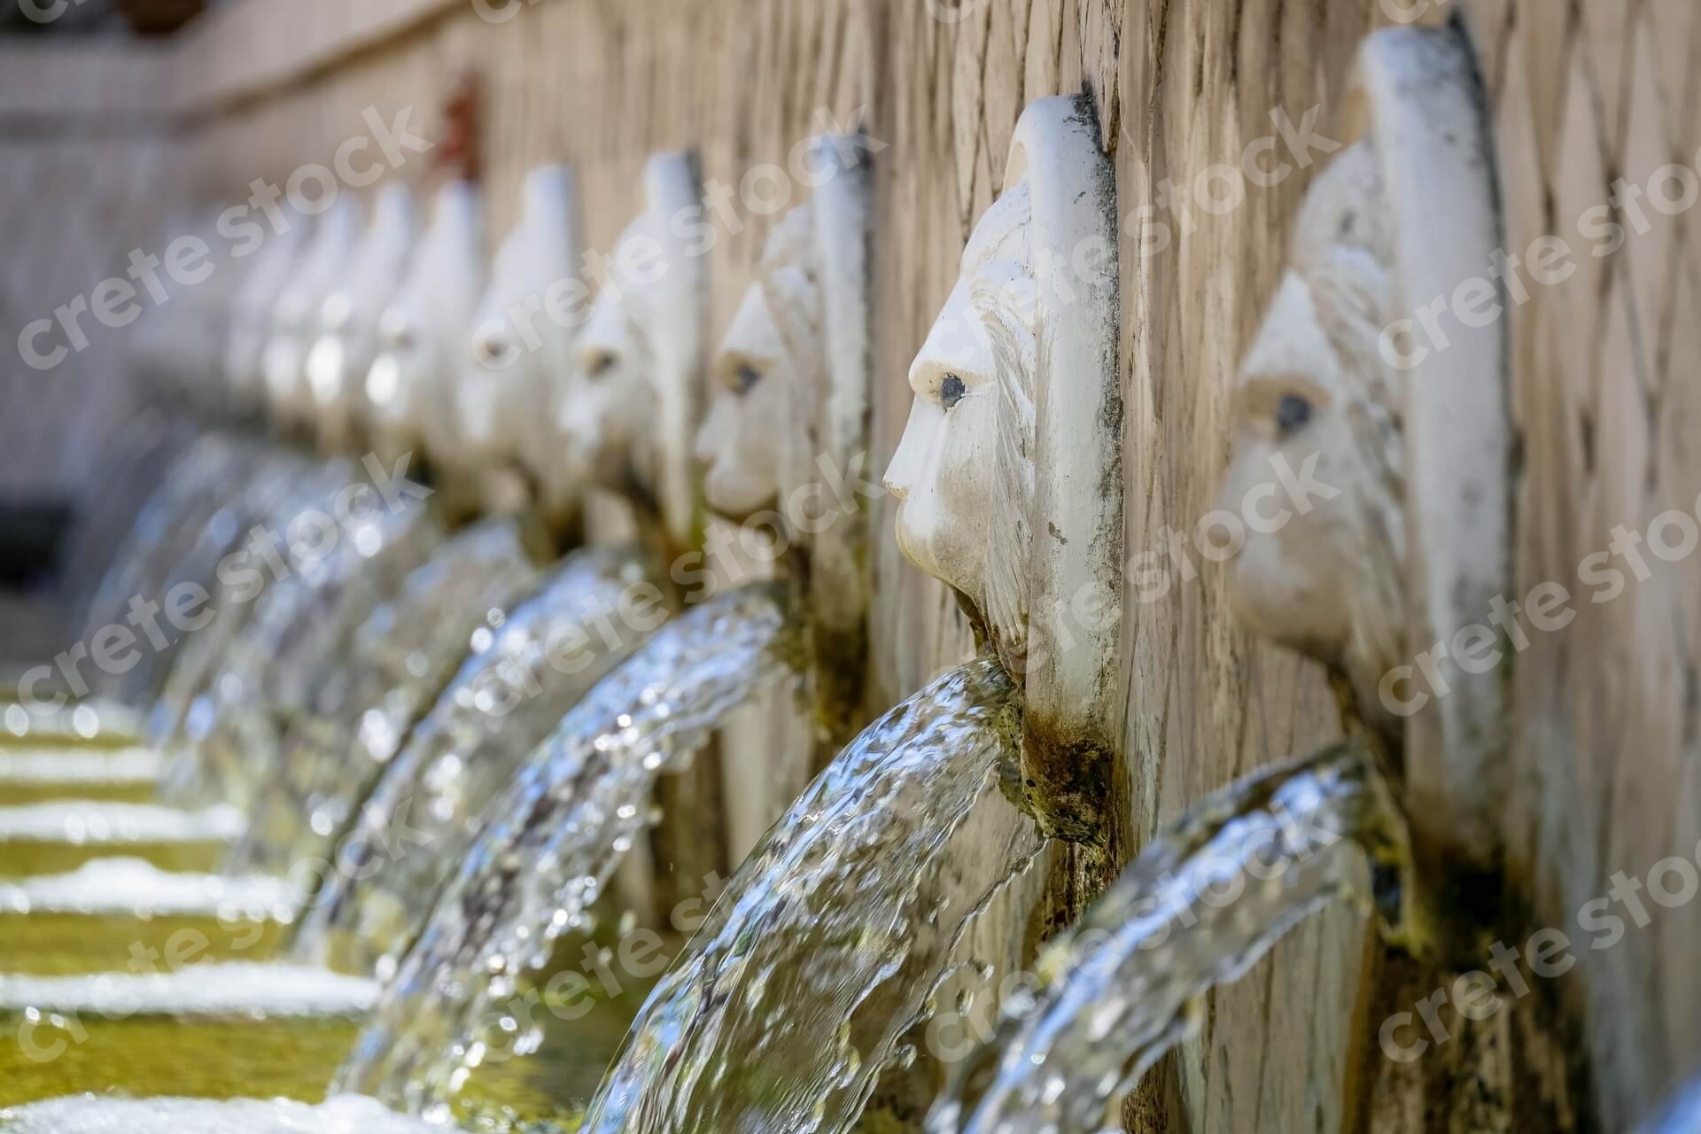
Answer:
[[[655,991],[583,1131],[842,1132],[1043,838],[1000,791],[1017,694],[975,661],[871,724],[733,879]],[[990,809],[990,811],[988,811]],[[997,848],[949,843],[992,816]]]

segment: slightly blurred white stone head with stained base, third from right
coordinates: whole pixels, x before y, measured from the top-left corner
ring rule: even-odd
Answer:
[[[709,508],[784,524],[806,592],[816,723],[833,750],[861,723],[868,663],[868,517],[839,491],[868,459],[873,211],[862,143],[811,139],[813,197],[769,233],[711,364],[716,394],[697,432]]]

